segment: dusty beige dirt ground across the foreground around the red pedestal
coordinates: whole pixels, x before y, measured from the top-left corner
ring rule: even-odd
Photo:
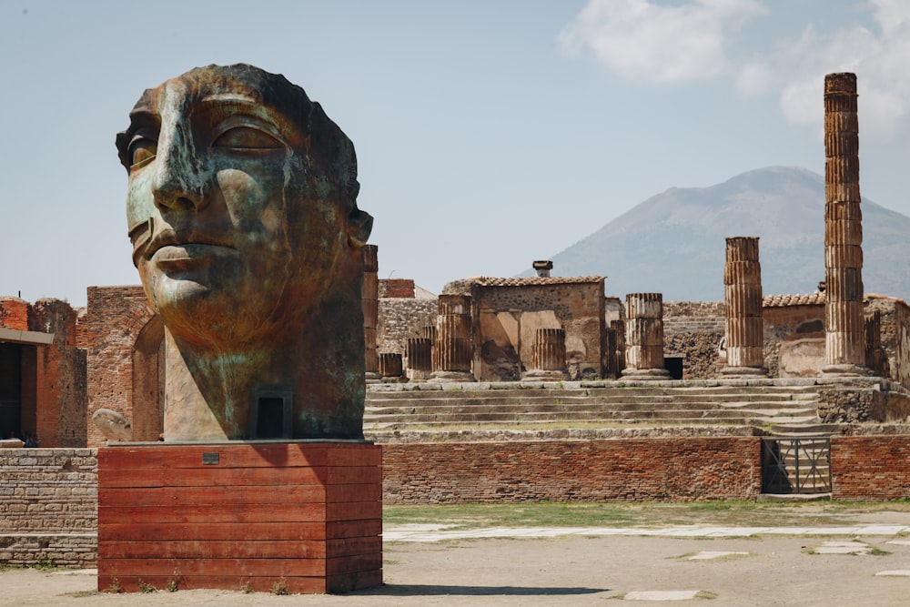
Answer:
[[[884,518],[884,517],[883,517]],[[906,513],[900,517],[906,521]],[[274,596],[224,591],[112,595],[95,592],[92,575],[0,572],[0,603],[94,605],[598,605],[636,591],[700,591],[688,602],[723,605],[906,604],[910,577],[876,572],[910,570],[910,545],[895,536],[864,536],[872,554],[817,554],[825,541],[853,537],[764,535],[740,539],[647,536],[387,542],[385,585],[348,595]],[[745,555],[690,561],[700,551]],[[887,552],[887,553],[885,553]],[[631,597],[632,595],[630,595]],[[627,600],[630,597],[626,597]],[[606,601],[610,601],[605,603]],[[658,604],[634,601],[633,604]],[[665,603],[660,603],[665,604]],[[680,604],[672,602],[671,604]]]

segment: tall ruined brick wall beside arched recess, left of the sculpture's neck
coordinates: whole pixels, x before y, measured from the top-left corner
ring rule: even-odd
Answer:
[[[87,295],[77,336],[78,345],[86,349],[87,416],[109,409],[132,421],[134,346],[152,310],[141,287],[89,287]],[[105,442],[94,423],[87,424],[86,434],[89,447]]]

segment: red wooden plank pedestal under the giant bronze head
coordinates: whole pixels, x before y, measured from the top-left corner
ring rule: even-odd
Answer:
[[[382,583],[382,448],[98,450],[98,590],[345,592]]]

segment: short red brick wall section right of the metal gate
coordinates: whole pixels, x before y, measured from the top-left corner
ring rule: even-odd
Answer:
[[[835,436],[831,470],[834,500],[910,499],[910,436]]]

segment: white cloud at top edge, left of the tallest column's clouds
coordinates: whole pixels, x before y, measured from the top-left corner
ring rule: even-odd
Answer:
[[[755,0],[696,0],[676,6],[591,0],[559,40],[571,52],[590,49],[622,76],[675,83],[722,73],[728,35],[763,12]]]

